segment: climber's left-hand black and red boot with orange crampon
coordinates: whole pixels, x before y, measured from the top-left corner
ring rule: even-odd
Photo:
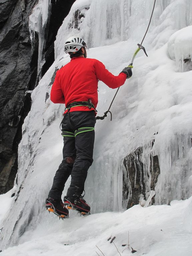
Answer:
[[[69,211],[63,204],[62,200],[55,200],[51,197],[46,199],[45,208],[49,212],[55,213],[59,218],[68,218]]]

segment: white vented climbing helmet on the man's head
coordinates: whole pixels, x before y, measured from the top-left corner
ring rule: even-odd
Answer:
[[[71,36],[65,42],[65,53],[77,52],[81,47],[85,47],[86,43],[79,36]]]

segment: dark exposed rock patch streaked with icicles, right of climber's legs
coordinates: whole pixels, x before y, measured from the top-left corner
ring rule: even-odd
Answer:
[[[139,147],[132,154],[125,157],[123,165],[123,191],[122,203],[124,208],[130,208],[143,200],[149,200],[153,204],[150,192],[155,190],[158,175],[160,174],[158,156],[152,156],[150,149],[153,143],[148,147]]]

